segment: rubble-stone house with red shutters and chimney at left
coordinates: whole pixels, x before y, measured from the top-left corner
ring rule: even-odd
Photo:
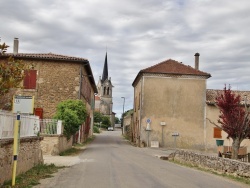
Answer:
[[[34,113],[44,119],[53,118],[61,101],[82,100],[88,113],[84,129],[92,135],[97,88],[87,59],[53,53],[18,53],[18,39],[14,40],[14,52],[1,55],[0,62],[7,61],[9,56],[33,65],[32,70],[25,71],[23,88],[11,94],[34,96]],[[4,108],[2,105],[0,109]]]

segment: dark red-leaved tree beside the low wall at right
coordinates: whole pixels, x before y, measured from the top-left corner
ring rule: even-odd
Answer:
[[[219,120],[217,125],[210,122],[228,134],[228,138],[232,138],[232,159],[238,158],[238,151],[241,142],[250,138],[250,113],[241,104],[240,95],[235,95],[230,86],[227,89],[225,86],[223,93],[216,97],[216,105],[220,110]]]

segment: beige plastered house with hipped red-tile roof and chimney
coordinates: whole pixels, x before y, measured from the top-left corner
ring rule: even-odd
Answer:
[[[169,59],[141,70],[134,82],[132,140],[141,146],[204,149],[209,73]]]

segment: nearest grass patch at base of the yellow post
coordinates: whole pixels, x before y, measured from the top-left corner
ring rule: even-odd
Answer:
[[[39,184],[40,179],[50,178],[52,177],[51,174],[58,172],[58,169],[64,167],[57,167],[54,164],[39,164],[29,171],[20,174],[16,177],[16,188],[29,188],[34,185]],[[2,188],[9,188],[11,187],[11,180],[5,182]]]

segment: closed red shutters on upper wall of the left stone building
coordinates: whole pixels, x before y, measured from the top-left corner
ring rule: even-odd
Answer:
[[[25,70],[23,87],[24,89],[36,89],[37,70]]]

